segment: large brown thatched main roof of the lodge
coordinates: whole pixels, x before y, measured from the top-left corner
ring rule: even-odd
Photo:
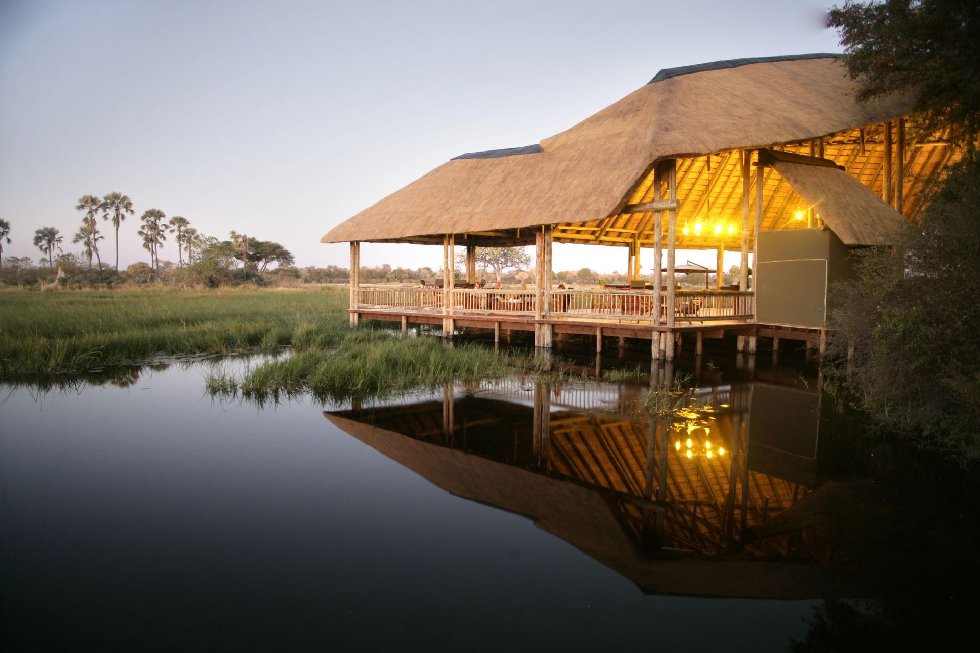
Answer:
[[[569,223],[584,224],[585,231],[556,233],[557,241],[583,242],[575,234],[587,233],[583,240],[606,242],[594,238],[609,230],[602,221],[642,194],[660,160],[805,141],[902,117],[910,108],[902,96],[857,103],[854,89],[834,55],[662,71],[595,116],[544,139],[540,152],[529,146],[443,163],[333,228],[321,242],[424,242],[417,237]],[[633,224],[646,216],[621,217]]]

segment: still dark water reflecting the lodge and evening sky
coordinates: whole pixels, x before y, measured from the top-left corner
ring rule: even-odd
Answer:
[[[208,362],[7,386],[3,648],[786,650],[873,590],[823,525],[743,529],[799,521],[850,454],[809,372],[699,362],[668,423],[647,382],[258,407],[205,396]]]

